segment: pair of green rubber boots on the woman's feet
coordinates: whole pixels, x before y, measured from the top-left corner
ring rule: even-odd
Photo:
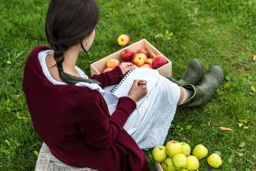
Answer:
[[[168,78],[179,86],[192,90],[193,95],[180,105],[202,106],[220,87],[223,80],[223,71],[218,65],[210,67],[204,74],[203,64],[199,59],[193,59],[186,68],[179,81]]]

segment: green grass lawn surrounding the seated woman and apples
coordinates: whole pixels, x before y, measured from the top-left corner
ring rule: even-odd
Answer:
[[[23,69],[35,46],[49,45],[44,22],[49,0],[0,0],[0,170],[31,171],[42,141],[36,134],[22,90]],[[89,56],[77,66],[91,75],[89,64],[117,51],[120,34],[131,43],[147,39],[173,62],[179,79],[190,60],[205,71],[220,65],[224,80],[203,107],[179,106],[165,144],[172,139],[191,148],[219,151],[223,164],[199,171],[256,171],[256,1],[255,0],[96,0],[100,21]],[[33,80],[31,80],[33,81]],[[223,131],[227,127],[232,131]],[[165,145],[164,144],[164,145]],[[144,151],[155,171],[152,149]]]

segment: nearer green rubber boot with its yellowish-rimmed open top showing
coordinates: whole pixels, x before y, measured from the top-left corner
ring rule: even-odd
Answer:
[[[206,71],[202,79],[198,82],[198,85],[181,85],[183,88],[194,91],[192,97],[181,105],[188,107],[204,105],[220,87],[223,77],[222,69],[218,65],[214,65]]]

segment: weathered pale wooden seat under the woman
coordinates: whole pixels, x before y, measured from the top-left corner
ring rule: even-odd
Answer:
[[[43,143],[36,161],[35,171],[97,171],[90,168],[68,166],[54,157],[49,148]]]

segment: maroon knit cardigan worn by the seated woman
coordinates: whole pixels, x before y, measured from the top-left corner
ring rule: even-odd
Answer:
[[[34,128],[51,153],[73,167],[100,171],[148,171],[146,156],[123,129],[136,108],[129,97],[120,97],[110,116],[97,90],[75,85],[54,85],[44,75],[36,47],[24,69],[23,90]],[[119,67],[93,75],[102,88],[117,84],[123,76]]]

